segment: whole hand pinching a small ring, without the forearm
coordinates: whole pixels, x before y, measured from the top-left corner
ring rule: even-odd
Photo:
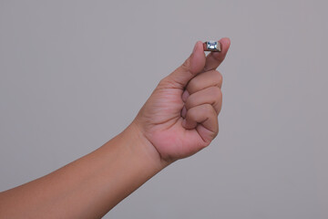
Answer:
[[[207,57],[197,42],[190,57],[163,78],[135,123],[165,162],[188,157],[210,144],[219,132],[222,76],[216,70],[226,56],[230,39],[220,39],[221,52]]]

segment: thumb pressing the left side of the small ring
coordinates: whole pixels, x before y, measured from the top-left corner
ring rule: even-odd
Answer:
[[[194,78],[205,67],[206,57],[203,43],[198,41],[187,60],[177,69],[175,69],[166,78],[169,84],[176,88],[183,89],[187,86],[191,78]]]

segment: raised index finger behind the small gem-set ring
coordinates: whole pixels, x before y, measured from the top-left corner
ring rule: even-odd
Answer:
[[[230,38],[221,38],[219,40],[222,48],[220,52],[210,52],[206,57],[206,63],[203,71],[210,71],[218,68],[221,62],[224,60],[224,57],[227,55],[228,49],[231,45]]]

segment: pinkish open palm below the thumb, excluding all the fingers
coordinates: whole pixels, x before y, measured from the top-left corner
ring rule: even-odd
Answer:
[[[197,130],[186,130],[182,126],[181,109],[184,102],[179,89],[154,90],[141,113],[146,138],[159,151],[164,160],[184,158],[200,151],[210,142],[201,139]]]

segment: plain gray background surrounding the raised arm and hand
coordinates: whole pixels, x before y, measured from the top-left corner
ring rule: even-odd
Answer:
[[[220,134],[106,218],[328,218],[326,1],[0,1],[0,190],[97,149],[197,40]]]

